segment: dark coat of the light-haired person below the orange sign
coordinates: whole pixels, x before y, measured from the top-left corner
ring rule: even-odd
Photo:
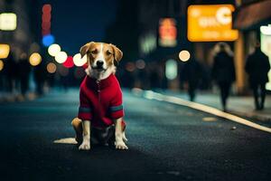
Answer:
[[[219,52],[214,57],[214,62],[211,70],[213,80],[217,82],[232,82],[235,81],[235,68],[233,57],[227,52]]]

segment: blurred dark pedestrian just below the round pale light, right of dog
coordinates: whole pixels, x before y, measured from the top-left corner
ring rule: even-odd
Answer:
[[[191,57],[191,59],[183,65],[181,80],[187,83],[187,91],[191,101],[195,99],[196,90],[198,89],[202,77],[201,72],[201,63],[194,57]]]

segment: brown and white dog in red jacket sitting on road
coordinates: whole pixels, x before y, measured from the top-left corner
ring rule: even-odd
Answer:
[[[79,150],[89,150],[92,143],[128,149],[122,91],[115,76],[123,52],[114,44],[95,42],[86,43],[79,52],[88,58],[87,75],[80,84],[78,118],[71,122]]]

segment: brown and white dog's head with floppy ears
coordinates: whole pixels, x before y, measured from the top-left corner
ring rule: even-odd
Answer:
[[[119,62],[123,53],[114,44],[86,43],[80,48],[81,57],[87,55],[89,67],[96,71],[107,71]]]

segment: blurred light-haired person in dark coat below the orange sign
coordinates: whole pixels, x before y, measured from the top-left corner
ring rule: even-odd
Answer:
[[[227,43],[218,43],[215,46],[216,54],[211,70],[211,76],[220,88],[220,100],[224,111],[227,111],[227,99],[233,81],[235,81],[235,68],[233,53]]]

